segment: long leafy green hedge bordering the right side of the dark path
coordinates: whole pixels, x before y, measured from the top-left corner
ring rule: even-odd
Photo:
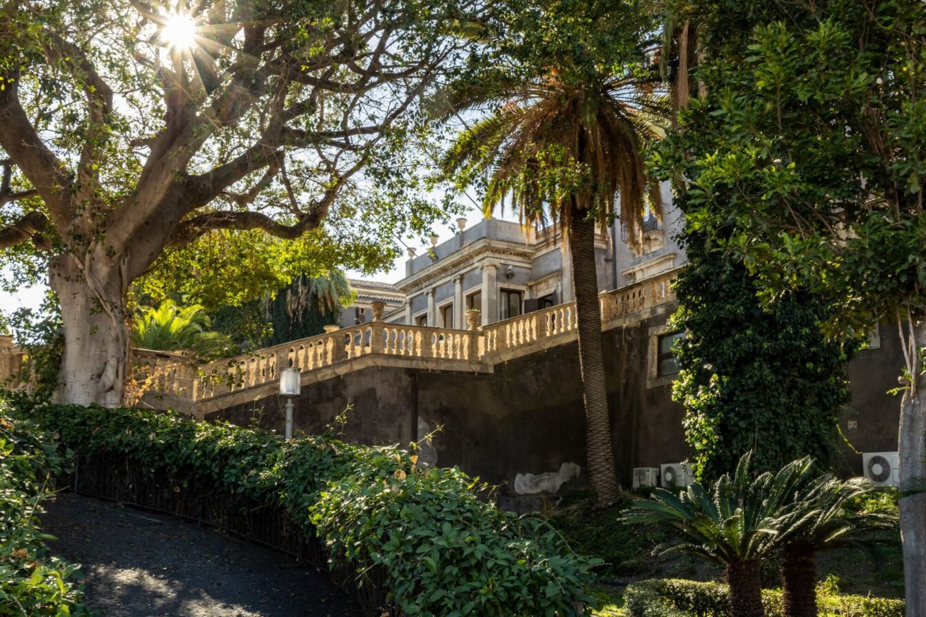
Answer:
[[[556,617],[594,602],[586,590],[596,561],[573,554],[548,524],[480,500],[458,469],[419,466],[405,450],[331,436],[282,441],[134,409],[32,415],[81,456],[129,457],[175,490],[208,486],[231,507],[282,506],[323,543],[332,568],[348,564],[357,586],[383,586],[407,615]]]

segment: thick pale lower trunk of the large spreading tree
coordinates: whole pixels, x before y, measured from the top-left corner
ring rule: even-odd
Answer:
[[[100,260],[103,261],[103,260]],[[124,273],[108,260],[79,262],[66,254],[52,261],[49,282],[61,303],[64,358],[58,381],[65,403],[122,404],[129,359]]]

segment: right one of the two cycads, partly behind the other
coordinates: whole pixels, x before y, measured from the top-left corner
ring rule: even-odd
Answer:
[[[787,617],[817,617],[816,554],[856,541],[860,534],[894,528],[895,517],[881,512],[854,512],[853,500],[877,487],[864,478],[840,480],[831,474],[801,477],[782,534],[782,583]]]

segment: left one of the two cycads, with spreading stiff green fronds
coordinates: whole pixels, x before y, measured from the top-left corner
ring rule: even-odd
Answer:
[[[628,522],[667,524],[683,538],[663,552],[687,552],[722,565],[733,617],[765,614],[759,565],[782,547],[782,529],[795,516],[783,505],[794,498],[811,465],[799,459],[775,475],[752,477],[751,458],[747,453],[735,474],[721,475],[709,491],[697,482],[678,496],[657,488],[651,500],[636,501],[624,512]]]

